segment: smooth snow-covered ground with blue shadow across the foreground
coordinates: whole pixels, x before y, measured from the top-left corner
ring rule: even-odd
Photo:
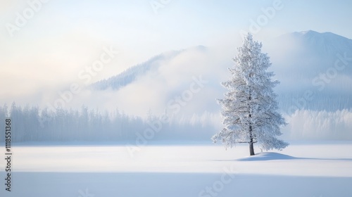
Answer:
[[[0,196],[352,196],[351,150],[351,141],[253,157],[248,146],[14,144],[12,191],[1,159]]]

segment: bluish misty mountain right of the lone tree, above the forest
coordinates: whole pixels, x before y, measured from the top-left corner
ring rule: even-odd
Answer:
[[[277,53],[277,51],[280,51]],[[284,112],[352,108],[352,40],[312,30],[272,40],[272,70]]]

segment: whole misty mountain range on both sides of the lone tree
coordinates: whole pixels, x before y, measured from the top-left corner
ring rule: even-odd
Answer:
[[[229,54],[235,51],[216,50],[195,46],[162,53],[92,87],[119,92],[114,98],[116,102],[125,105],[132,102],[131,108],[169,106],[170,101],[189,90],[194,78],[201,76],[206,79],[206,86],[180,106],[187,106],[182,110],[191,114],[217,113],[220,108],[215,98],[222,98],[226,91],[220,82],[230,77],[227,68],[232,67],[233,56]],[[263,51],[269,54],[270,70],[281,82],[275,91],[282,112],[352,108],[351,39],[331,32],[292,32],[263,42]],[[145,98],[137,99],[136,92],[146,92],[142,96]]]

